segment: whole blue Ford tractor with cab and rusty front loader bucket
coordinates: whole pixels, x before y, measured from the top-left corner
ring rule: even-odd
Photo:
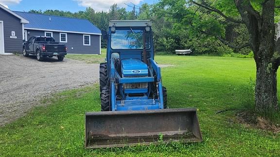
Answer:
[[[109,21],[100,64],[101,112],[86,113],[86,147],[201,141],[195,108],[167,109],[150,20]]]

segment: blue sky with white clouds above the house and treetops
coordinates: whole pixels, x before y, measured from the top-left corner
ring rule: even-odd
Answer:
[[[27,12],[32,9],[78,12],[86,10],[87,7],[91,7],[95,11],[108,11],[113,3],[117,3],[119,7],[125,7],[127,10],[131,10],[132,8],[124,3],[133,6],[133,4],[153,4],[156,1],[157,0],[0,0],[0,4],[8,7],[10,10],[21,12]]]

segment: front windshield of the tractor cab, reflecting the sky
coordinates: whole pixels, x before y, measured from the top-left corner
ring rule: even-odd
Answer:
[[[125,29],[116,30],[111,34],[112,49],[143,49],[143,30],[140,29]],[[151,47],[150,38],[146,32],[146,49]]]

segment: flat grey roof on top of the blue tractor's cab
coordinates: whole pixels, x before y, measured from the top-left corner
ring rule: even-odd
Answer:
[[[111,20],[109,27],[147,27],[152,26],[151,20]]]

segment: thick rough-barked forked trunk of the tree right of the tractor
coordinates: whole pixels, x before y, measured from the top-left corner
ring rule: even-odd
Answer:
[[[235,5],[249,31],[250,46],[257,65],[255,109],[271,115],[278,112],[277,69],[280,54],[275,51],[275,0],[262,3],[262,14],[254,9],[250,0],[235,0]]]

